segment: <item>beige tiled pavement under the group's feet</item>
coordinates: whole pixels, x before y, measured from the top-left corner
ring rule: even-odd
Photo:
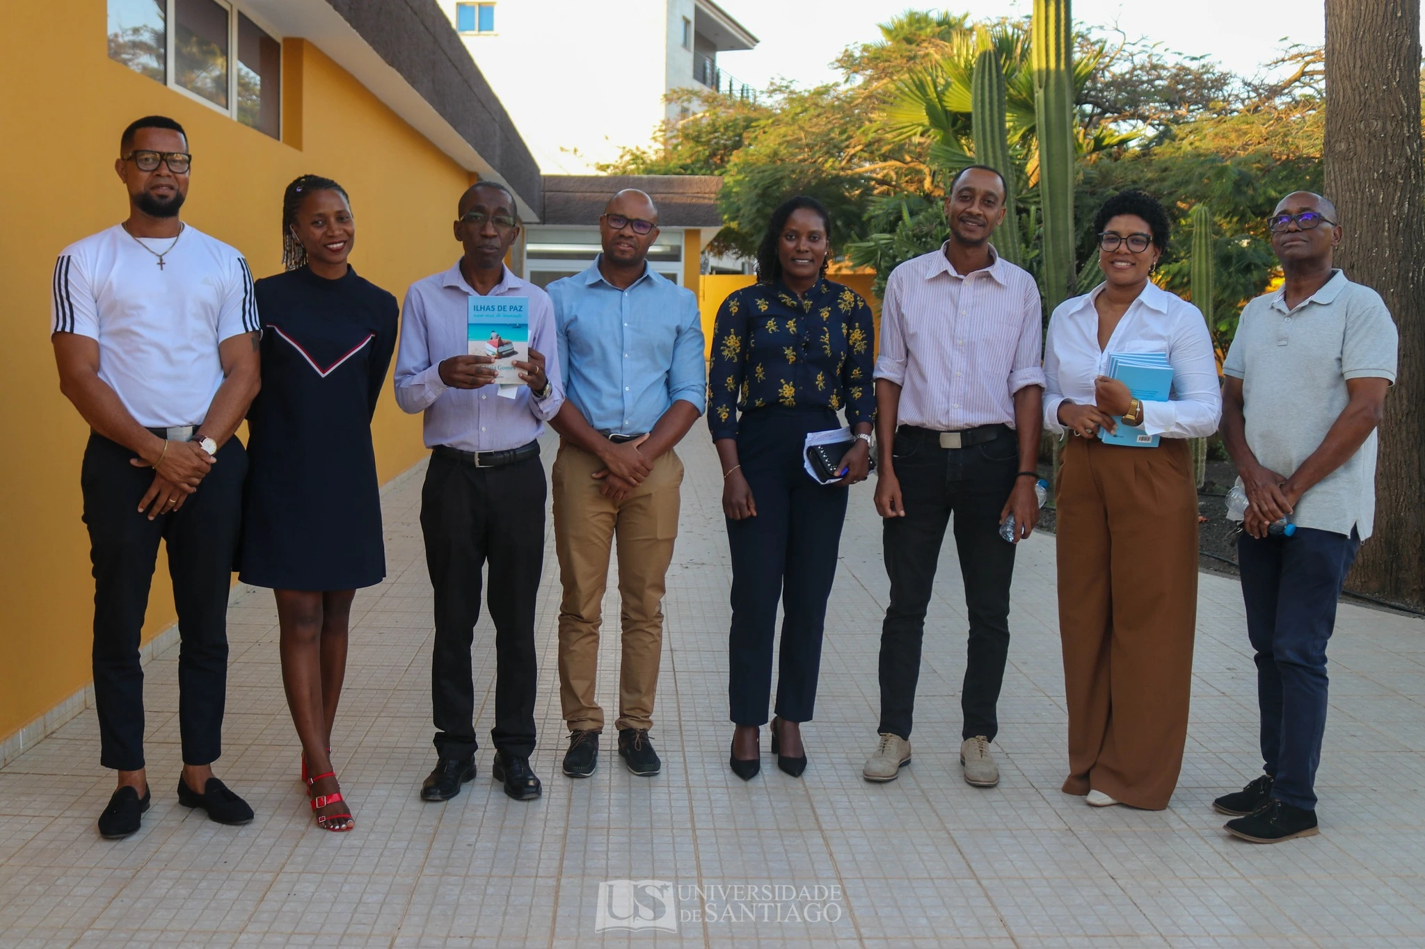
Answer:
[[[546,445],[546,462],[551,458]],[[506,798],[480,775],[460,797],[416,797],[433,763],[430,588],[418,525],[422,468],[385,494],[389,579],[358,595],[335,734],[356,829],[315,828],[278,672],[266,590],[239,588],[219,774],[256,810],[244,828],[177,805],[177,647],[147,670],[154,808],[107,842],[111,790],[84,711],[0,770],[0,946],[1419,946],[1425,945],[1425,622],[1344,605],[1331,646],[1321,837],[1255,847],[1223,834],[1210,800],[1260,768],[1254,670],[1235,582],[1203,576],[1193,723],[1167,811],[1094,810],[1059,791],[1063,679],[1053,539],[1020,549],[999,788],[956,761],[965,610],[942,556],[921,676],[915,763],[872,785],[876,647],[886,582],[871,487],[852,491],[802,780],[765,754],[750,784],[727,768],[727,544],[704,430],[668,578],[653,731],[661,777],[630,775],[604,743],[591,780],[559,773],[553,535],[539,603],[544,797]],[[604,615],[617,617],[610,583]],[[600,699],[616,699],[617,637]],[[477,731],[493,706],[493,630],[475,646]],[[634,919],[596,933],[600,884],[661,881]],[[735,885],[788,891],[727,891]],[[815,888],[821,886],[821,891]],[[606,922],[628,922],[616,888]],[[711,903],[711,906],[708,906]],[[707,918],[707,911],[712,918]]]

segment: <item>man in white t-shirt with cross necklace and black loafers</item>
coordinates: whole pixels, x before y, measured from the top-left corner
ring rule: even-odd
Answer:
[[[221,824],[252,810],[212,775],[227,690],[227,610],[247,454],[232,438],[258,391],[259,324],[242,255],[178,219],[188,137],[133,122],[114,164],[128,219],[60,255],[53,275],[60,391],[93,433],[80,478],[94,563],[100,763],[118,790],[98,820],[120,838],[148,810],[140,633],[160,539],[178,609],[178,801]]]

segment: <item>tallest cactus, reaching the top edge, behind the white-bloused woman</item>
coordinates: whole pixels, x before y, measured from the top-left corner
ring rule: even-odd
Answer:
[[[1035,0],[1032,65],[1039,137],[1039,198],[1045,213],[1042,273],[1045,307],[1053,312],[1076,292],[1073,185],[1073,14],[1069,0]]]

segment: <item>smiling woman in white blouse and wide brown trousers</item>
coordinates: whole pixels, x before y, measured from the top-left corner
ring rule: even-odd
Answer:
[[[1126,191],[1094,218],[1104,282],[1062,303],[1045,340],[1045,425],[1067,433],[1056,488],[1066,794],[1163,810],[1187,741],[1197,623],[1197,487],[1187,438],[1217,430],[1207,323],[1149,277],[1167,249],[1157,199]],[[1166,354],[1167,401],[1107,378],[1113,353]],[[1114,445],[1100,430],[1157,435]]]

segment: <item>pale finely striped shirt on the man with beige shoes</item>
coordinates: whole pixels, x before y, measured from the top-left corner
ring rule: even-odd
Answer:
[[[906,425],[1015,427],[1015,393],[1043,386],[1039,286],[990,248],[993,263],[956,273],[945,246],[886,280],[876,378],[901,386]]]

